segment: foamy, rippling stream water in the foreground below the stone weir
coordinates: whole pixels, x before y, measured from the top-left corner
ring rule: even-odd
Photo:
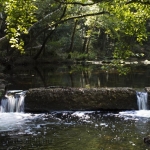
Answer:
[[[145,115],[147,114],[147,115]],[[145,150],[150,111],[66,111],[0,114],[0,148],[32,150]]]

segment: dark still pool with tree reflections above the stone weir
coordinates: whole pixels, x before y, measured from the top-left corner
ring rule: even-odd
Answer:
[[[9,89],[28,90],[35,87],[133,87],[150,86],[150,65],[132,66],[127,75],[119,75],[112,67],[104,71],[100,65],[14,66],[8,71]]]

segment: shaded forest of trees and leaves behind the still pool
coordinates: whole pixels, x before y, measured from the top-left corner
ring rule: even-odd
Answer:
[[[5,0],[0,5],[5,66],[150,58],[149,1]]]

